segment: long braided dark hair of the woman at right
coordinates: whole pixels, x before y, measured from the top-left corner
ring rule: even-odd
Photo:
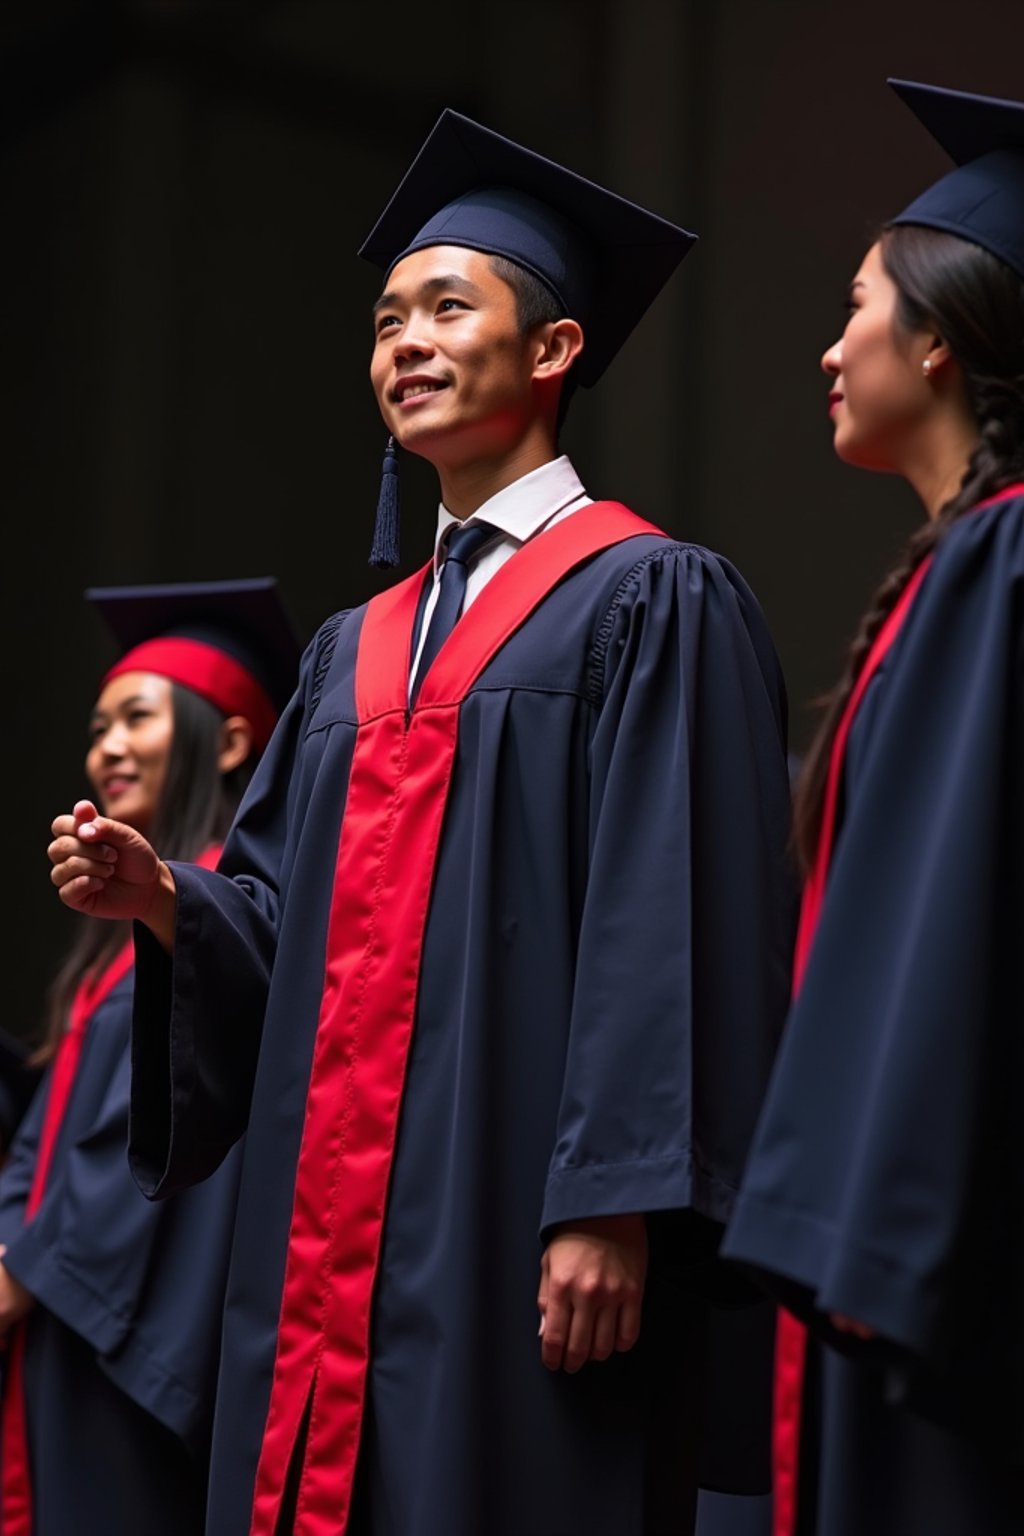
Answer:
[[[811,868],[832,742],[867,653],[910,576],[979,501],[1024,479],[1024,283],[996,257],[956,235],[915,224],[881,233],[883,266],[897,287],[895,324],[933,330],[960,364],[978,422],[978,444],[964,478],[938,516],[907,541],[898,564],[878,585],[843,676],[821,700],[821,720],[797,779],[794,836],[801,866]]]

